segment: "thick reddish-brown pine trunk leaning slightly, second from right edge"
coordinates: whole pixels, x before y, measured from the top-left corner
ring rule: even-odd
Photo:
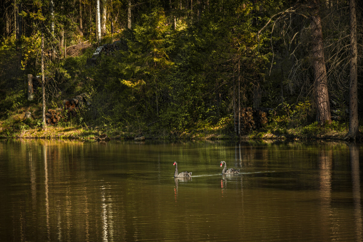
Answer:
[[[317,120],[320,124],[331,122],[330,101],[323,45],[323,32],[319,11],[319,0],[313,0],[311,15],[312,64],[314,69],[315,96],[317,101]]]

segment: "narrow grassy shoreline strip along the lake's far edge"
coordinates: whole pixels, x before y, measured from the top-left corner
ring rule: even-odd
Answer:
[[[70,139],[79,141],[92,141],[101,136],[106,135],[109,140],[135,140],[143,141],[136,138],[143,136],[144,140],[234,140],[234,141],[249,141],[249,140],[271,140],[271,141],[285,141],[285,140],[334,140],[334,141],[346,141],[344,137],[346,134],[337,131],[330,131],[329,133],[322,134],[294,134],[292,131],[286,134],[273,134],[266,130],[254,131],[250,134],[242,135],[241,138],[234,135],[205,133],[203,131],[193,131],[190,133],[184,132],[180,135],[169,134],[167,136],[155,136],[150,134],[139,135],[135,133],[126,133],[122,131],[99,131],[99,130],[85,130],[81,127],[48,127],[46,130],[40,128],[34,128],[30,130],[18,131],[6,136],[1,135],[0,139]],[[136,139],[135,139],[136,138]],[[99,139],[100,140],[100,139]],[[103,141],[103,140],[101,140]],[[362,142],[362,135],[358,137],[357,142]]]

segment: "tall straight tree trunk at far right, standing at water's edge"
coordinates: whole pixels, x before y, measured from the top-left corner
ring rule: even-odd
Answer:
[[[350,73],[349,73],[349,131],[344,139],[354,139],[359,132],[358,124],[358,73],[357,73],[357,19],[355,0],[349,0]]]

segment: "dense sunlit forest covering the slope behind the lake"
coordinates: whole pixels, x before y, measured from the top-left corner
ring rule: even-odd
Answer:
[[[359,1],[0,3],[1,137],[361,139]]]

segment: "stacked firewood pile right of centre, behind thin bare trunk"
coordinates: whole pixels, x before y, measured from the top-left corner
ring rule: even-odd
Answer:
[[[252,107],[245,107],[241,109],[241,133],[245,134],[249,131],[256,130],[265,126],[267,123],[266,112],[260,109],[252,109]],[[236,126],[238,127],[238,119],[236,119]]]

